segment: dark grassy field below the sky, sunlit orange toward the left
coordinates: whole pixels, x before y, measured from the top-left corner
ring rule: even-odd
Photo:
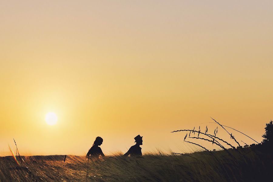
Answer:
[[[114,157],[114,158],[109,158]],[[103,159],[62,155],[0,157],[0,181],[262,181],[271,178],[272,151],[253,146],[187,155],[119,154]]]

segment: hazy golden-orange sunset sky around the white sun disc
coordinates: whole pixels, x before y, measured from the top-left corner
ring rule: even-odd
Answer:
[[[261,142],[273,118],[272,9],[266,0],[1,1],[0,156],[13,138],[20,155],[85,155],[96,136],[106,155],[125,153],[138,134],[143,152],[192,152],[200,148],[186,133],[170,132],[213,134],[211,117]]]

